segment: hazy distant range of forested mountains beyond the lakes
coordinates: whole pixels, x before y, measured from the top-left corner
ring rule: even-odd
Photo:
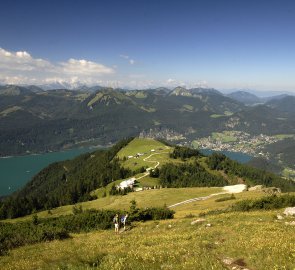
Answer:
[[[282,110],[285,102],[286,108]],[[294,99],[255,107],[214,89],[96,92],[0,86],[0,155],[107,145],[152,130],[192,141],[212,132],[294,134]]]

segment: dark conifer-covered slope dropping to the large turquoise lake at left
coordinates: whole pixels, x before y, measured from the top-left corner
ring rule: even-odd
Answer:
[[[130,140],[123,140],[108,150],[49,165],[24,188],[4,199],[0,217],[24,216],[32,211],[91,200],[90,191],[131,174],[115,158]]]

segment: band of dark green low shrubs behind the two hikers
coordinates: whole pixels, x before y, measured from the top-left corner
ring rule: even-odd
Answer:
[[[56,218],[38,218],[35,214],[32,220],[17,223],[0,222],[0,256],[9,250],[38,242],[62,240],[70,237],[70,233],[89,232],[93,230],[106,230],[113,226],[115,214],[120,216],[126,212],[115,210],[74,211],[73,215]],[[137,208],[136,202],[131,201],[130,210],[127,211],[127,224],[133,221],[172,219],[174,211],[164,208]]]

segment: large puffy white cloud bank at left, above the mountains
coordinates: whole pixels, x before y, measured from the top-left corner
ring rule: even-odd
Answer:
[[[0,82],[11,84],[42,84],[50,81],[82,83],[101,82],[103,76],[115,73],[111,67],[85,59],[69,59],[52,63],[34,58],[26,51],[10,52],[0,48]]]

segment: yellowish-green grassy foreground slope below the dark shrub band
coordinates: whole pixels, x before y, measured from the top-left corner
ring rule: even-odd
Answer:
[[[261,194],[237,195],[253,196]],[[174,220],[137,223],[119,235],[96,231],[21,247],[0,257],[1,269],[228,269],[222,263],[227,257],[249,269],[294,269],[295,228],[274,220],[281,211],[212,215],[209,228],[184,218],[232,203],[214,200],[181,206]]]

